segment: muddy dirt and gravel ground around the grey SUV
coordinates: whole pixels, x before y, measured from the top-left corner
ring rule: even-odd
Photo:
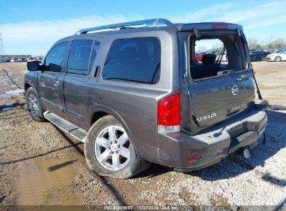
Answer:
[[[286,62],[253,62],[264,99],[286,105]],[[286,203],[286,111],[269,110],[267,143],[188,174],[152,164],[136,178],[97,176],[84,144],[26,110],[26,63],[0,63],[0,205],[244,205]],[[78,210],[78,209],[77,209]]]

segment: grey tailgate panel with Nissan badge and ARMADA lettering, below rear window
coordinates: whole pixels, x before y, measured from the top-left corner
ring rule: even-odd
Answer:
[[[196,115],[200,125],[197,131],[238,115],[252,105],[255,94],[252,75],[251,71],[244,71],[189,83],[193,103],[193,108],[188,105],[189,117]]]

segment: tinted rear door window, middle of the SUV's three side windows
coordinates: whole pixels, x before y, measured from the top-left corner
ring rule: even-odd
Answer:
[[[70,47],[67,64],[68,74],[88,74],[88,63],[93,40],[74,40]]]

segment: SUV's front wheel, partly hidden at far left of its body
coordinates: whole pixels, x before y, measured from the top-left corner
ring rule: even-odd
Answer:
[[[35,121],[45,121],[40,100],[38,99],[37,94],[35,94],[33,87],[29,87],[29,89],[26,90],[26,105],[31,117]]]

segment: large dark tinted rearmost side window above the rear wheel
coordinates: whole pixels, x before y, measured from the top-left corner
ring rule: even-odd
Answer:
[[[106,56],[102,78],[154,84],[160,78],[160,61],[157,38],[115,40]]]

